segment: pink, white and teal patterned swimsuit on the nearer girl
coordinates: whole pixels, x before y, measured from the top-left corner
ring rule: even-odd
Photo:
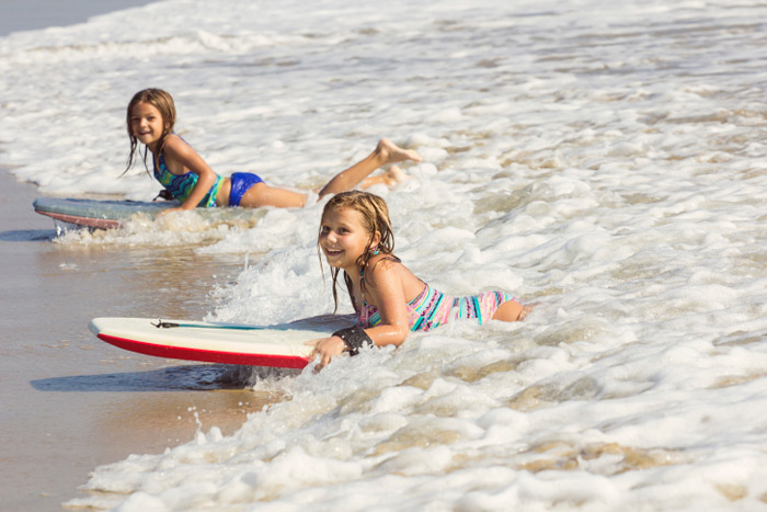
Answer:
[[[470,297],[450,297],[424,283],[423,292],[408,303],[410,330],[425,332],[460,318],[476,318],[482,325],[493,318],[499,306],[512,299],[511,295],[503,292],[482,292]],[[352,303],[355,301],[352,300]],[[357,308],[356,304],[354,307],[364,328],[375,327],[381,322],[378,308],[367,304],[364,295],[362,307]]]

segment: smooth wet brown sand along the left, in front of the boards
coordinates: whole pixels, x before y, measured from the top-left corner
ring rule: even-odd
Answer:
[[[230,366],[133,354],[88,330],[96,316],[201,319],[216,280],[241,262],[192,248],[61,247],[32,208],[33,185],[0,169],[0,510],[60,510],[96,465],[187,442],[198,425],[232,432],[279,399],[242,389]],[[190,268],[209,277],[187,283]]]

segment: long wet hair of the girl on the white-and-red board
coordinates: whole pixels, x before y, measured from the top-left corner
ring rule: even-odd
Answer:
[[[386,201],[369,192],[362,191],[348,191],[335,194],[327,204],[322,211],[322,219],[325,218],[325,214],[332,211],[339,211],[344,208],[351,208],[359,212],[363,218],[363,227],[369,234],[367,247],[365,251],[357,258],[357,266],[360,272],[365,273],[367,271],[368,262],[373,257],[375,251],[380,254],[389,254],[393,257],[394,252],[394,232],[391,229],[391,220],[389,219],[389,208],[386,205]],[[380,240],[376,247],[373,247],[373,239],[378,231],[381,235]],[[320,223],[320,234],[322,232],[322,223]],[[317,238],[317,249],[320,255],[320,268],[322,268],[322,251],[320,249],[319,235]],[[399,261],[399,260],[398,260]],[[341,269],[333,268],[330,270],[330,274],[333,277],[333,303],[334,309],[333,314],[339,309],[339,294],[337,294],[337,280]],[[352,295],[352,278],[344,271],[344,283],[346,284],[346,291],[348,296],[352,298],[352,304],[354,301],[354,295]],[[363,285],[364,286],[364,285]],[[363,299],[365,297],[365,289],[363,288]]]

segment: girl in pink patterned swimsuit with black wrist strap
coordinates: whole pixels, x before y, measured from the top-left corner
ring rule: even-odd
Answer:
[[[359,191],[333,196],[324,207],[318,246],[332,268],[333,299],[337,309],[336,283],[344,271],[346,289],[359,323],[312,340],[320,354],[319,367],[360,346],[399,345],[411,331],[427,331],[458,318],[517,321],[529,307],[503,292],[472,297],[449,297],[417,278],[392,254],[394,235],[386,202]]]

